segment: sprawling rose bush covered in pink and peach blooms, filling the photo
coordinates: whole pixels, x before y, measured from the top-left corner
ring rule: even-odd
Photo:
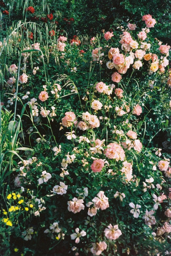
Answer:
[[[1,227],[11,250],[167,254],[170,155],[157,140],[170,133],[170,47],[150,36],[155,19],[142,19],[143,27],[128,23],[89,45],[55,23],[47,40],[40,30],[44,45],[27,25],[24,43],[19,34],[2,42],[2,59],[8,46],[28,50],[20,66],[17,54],[8,59],[3,87],[2,117],[22,113],[22,146],[3,185]]]

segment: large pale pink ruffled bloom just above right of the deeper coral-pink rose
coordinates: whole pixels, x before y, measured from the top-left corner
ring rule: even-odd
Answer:
[[[124,161],[125,152],[123,148],[117,143],[110,143],[108,148],[104,150],[106,157],[115,159],[116,161]]]

